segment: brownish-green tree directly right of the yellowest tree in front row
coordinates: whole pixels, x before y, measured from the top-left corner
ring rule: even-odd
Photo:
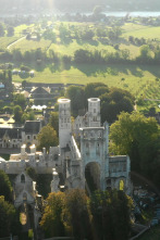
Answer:
[[[63,218],[75,239],[93,239],[88,198],[84,190],[72,189],[65,193]]]

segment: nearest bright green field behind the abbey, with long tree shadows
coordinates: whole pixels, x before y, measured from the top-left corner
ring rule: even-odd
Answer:
[[[160,77],[158,66],[148,65],[96,65],[81,64],[78,66],[49,65],[37,68],[34,78],[25,78],[34,83],[76,83],[88,84],[93,81],[102,81],[109,87],[120,87],[130,90],[135,96],[143,98],[160,99],[160,81],[155,80]],[[122,78],[124,78],[122,80]],[[13,76],[14,81],[22,81],[20,76]],[[155,90],[153,90],[155,86]]]

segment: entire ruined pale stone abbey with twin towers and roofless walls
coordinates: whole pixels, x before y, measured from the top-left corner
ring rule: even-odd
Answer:
[[[71,100],[60,99],[59,146],[50,147],[49,152],[46,149],[37,152],[33,144],[30,153],[26,153],[25,148],[23,144],[21,153],[12,154],[10,161],[0,159],[0,169],[17,175],[14,184],[17,207],[24,199],[34,205],[36,190],[35,182],[25,173],[28,166],[38,174],[52,174],[51,191],[60,190],[60,175],[65,188],[89,191],[86,181],[89,173],[97,189],[116,188],[131,194],[130,157],[109,155],[109,125],[101,126],[98,98],[88,99],[88,112],[85,116],[77,116],[74,124],[71,123]]]

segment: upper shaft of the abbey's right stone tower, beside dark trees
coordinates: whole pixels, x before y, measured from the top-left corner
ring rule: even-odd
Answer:
[[[100,99],[88,99],[88,127],[100,127]]]

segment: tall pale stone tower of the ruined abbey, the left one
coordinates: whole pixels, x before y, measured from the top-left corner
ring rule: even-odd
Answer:
[[[59,99],[59,141],[65,148],[71,136],[71,100]]]

